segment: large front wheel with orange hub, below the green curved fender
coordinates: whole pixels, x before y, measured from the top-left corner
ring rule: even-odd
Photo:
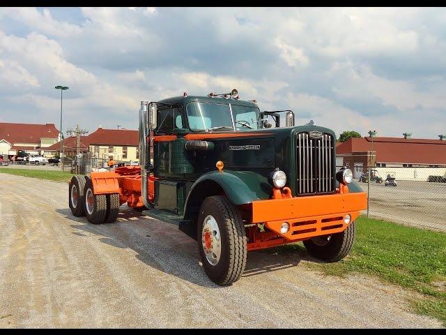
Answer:
[[[217,285],[231,285],[243,274],[247,238],[240,213],[228,198],[215,195],[201,204],[197,242],[203,269]]]

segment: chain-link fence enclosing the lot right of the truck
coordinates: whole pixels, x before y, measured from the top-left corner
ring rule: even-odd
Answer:
[[[369,192],[369,217],[446,231],[446,167],[348,168],[354,181]]]

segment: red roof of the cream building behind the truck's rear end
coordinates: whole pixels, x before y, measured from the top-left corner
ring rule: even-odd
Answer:
[[[129,129],[104,129],[99,127],[88,137],[90,145],[116,145],[137,147],[139,131]]]

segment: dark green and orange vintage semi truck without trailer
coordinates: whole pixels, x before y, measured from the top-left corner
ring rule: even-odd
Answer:
[[[208,277],[229,285],[247,251],[296,241],[325,261],[344,258],[367,208],[351,170],[335,172],[335,135],[294,126],[291,110],[268,112],[228,94],[141,101],[140,165],[72,177],[72,214],[116,221],[119,206],[197,240]]]

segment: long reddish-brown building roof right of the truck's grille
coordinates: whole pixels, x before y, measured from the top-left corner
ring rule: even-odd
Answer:
[[[336,148],[337,154],[372,151],[371,137],[351,137]],[[446,141],[423,138],[373,137],[376,163],[446,165]]]

